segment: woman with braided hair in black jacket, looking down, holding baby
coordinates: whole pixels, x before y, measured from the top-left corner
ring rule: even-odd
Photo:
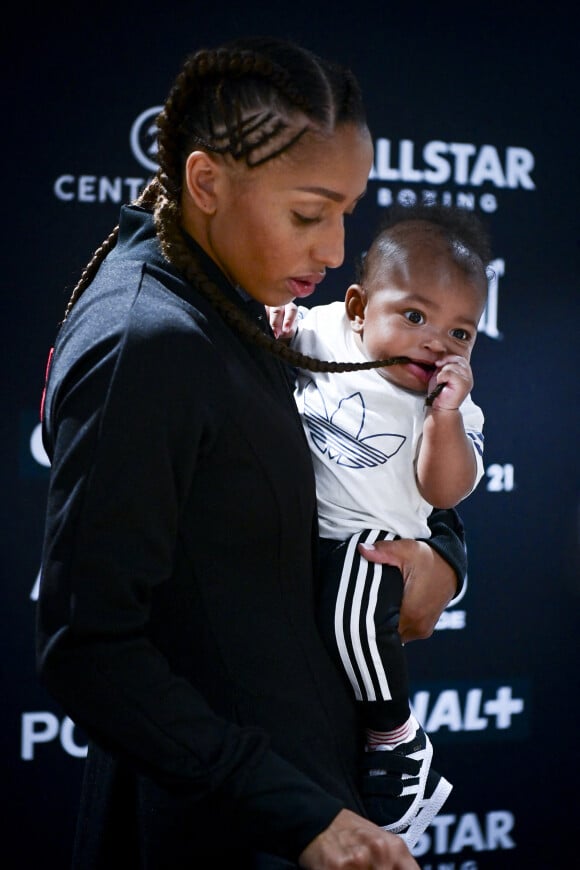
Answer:
[[[158,124],[159,171],[75,288],[43,397],[39,670],[90,738],[73,864],[416,868],[363,818],[315,627],[311,460],[262,331],[342,262],[372,163],[357,83],[239,40],[186,60]],[[407,639],[463,567],[446,521],[451,565],[376,552],[408,579]]]

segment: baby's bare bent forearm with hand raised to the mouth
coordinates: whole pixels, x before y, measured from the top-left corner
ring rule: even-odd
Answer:
[[[473,388],[468,360],[461,356],[442,359],[429,392],[442,384],[441,392],[425,408],[415,473],[423,498],[437,507],[450,508],[469,495],[477,481],[473,442],[459,410]]]

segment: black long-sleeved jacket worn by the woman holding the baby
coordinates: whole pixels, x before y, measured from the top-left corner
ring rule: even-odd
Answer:
[[[295,861],[362,806],[353,702],[315,628],[314,479],[283,366],[125,207],[57,337],[43,421],[39,669],[91,740],[76,866]]]

